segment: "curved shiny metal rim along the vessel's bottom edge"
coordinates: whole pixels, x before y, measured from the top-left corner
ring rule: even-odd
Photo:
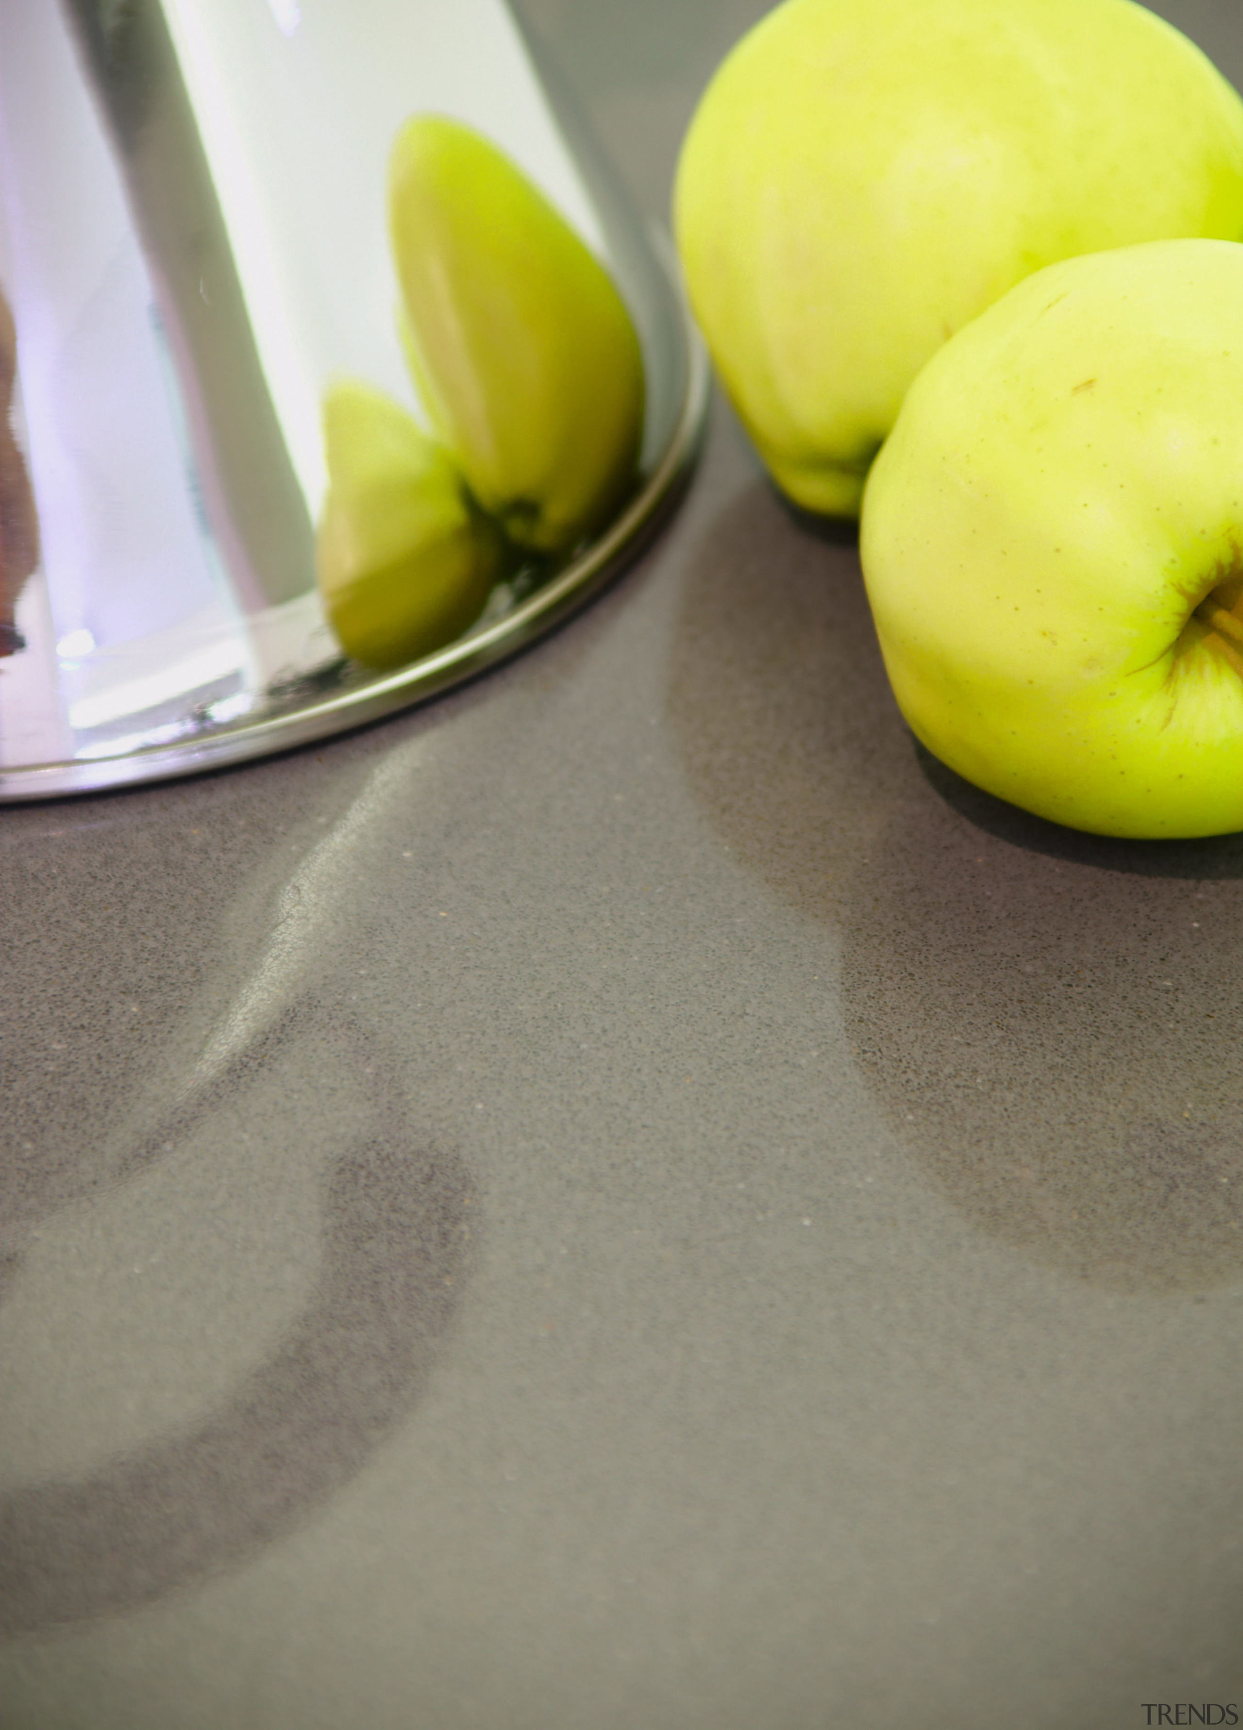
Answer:
[[[674,275],[672,268],[669,268],[669,275]],[[375,678],[353,690],[311,699],[285,713],[256,718],[249,723],[240,721],[237,727],[221,727],[202,737],[145,746],[114,758],[31,763],[29,766],[0,770],[0,803],[55,799],[66,794],[175,780],[183,775],[201,775],[233,763],[275,756],[425,702],[455,685],[477,678],[488,668],[538,642],[586,606],[641,550],[645,531],[659,528],[664,516],[662,507],[676,503],[679,486],[690,476],[707,408],[711,370],[704,344],[681,296],[678,296],[678,306],[685,339],[686,381],[678,419],[660,460],[609,531],[505,618],[467,633],[436,654],[411,661],[398,673]]]

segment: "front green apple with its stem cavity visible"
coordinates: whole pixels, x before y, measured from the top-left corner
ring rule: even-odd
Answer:
[[[1067,260],[959,330],[861,554],[899,708],[959,775],[1096,834],[1243,829],[1243,246]]]

